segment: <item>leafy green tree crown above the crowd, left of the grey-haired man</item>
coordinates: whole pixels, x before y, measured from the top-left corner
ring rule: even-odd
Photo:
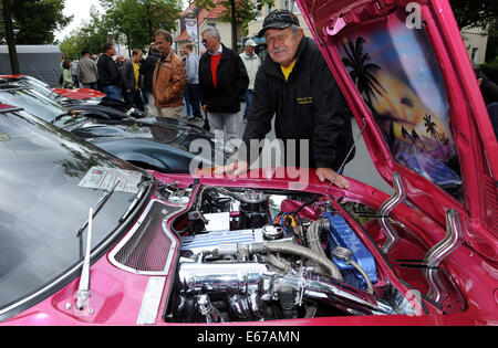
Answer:
[[[157,29],[173,31],[180,0],[100,0],[114,34],[124,35],[129,48],[144,49]]]

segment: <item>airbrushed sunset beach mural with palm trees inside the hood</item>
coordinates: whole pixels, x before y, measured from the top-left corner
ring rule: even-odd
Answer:
[[[339,51],[396,162],[461,200],[446,89],[424,35],[381,24],[344,36]]]

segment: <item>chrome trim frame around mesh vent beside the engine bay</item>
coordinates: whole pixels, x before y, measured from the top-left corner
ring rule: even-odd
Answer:
[[[126,243],[134,236],[134,234],[137,232],[137,230],[139,229],[139,226],[142,225],[142,223],[144,222],[145,218],[147,217],[148,212],[151,211],[152,207],[154,205],[154,203],[160,203],[164,208],[170,208],[172,211],[166,214],[163,218],[163,232],[166,234],[166,236],[172,241],[172,246],[169,247],[169,252],[168,252],[168,257],[166,260],[166,265],[164,267],[163,271],[157,272],[157,271],[137,271],[134,270],[132,267],[125,266],[124,264],[120,263],[115,256],[116,254],[124,247],[124,245],[126,245]],[[177,241],[176,238],[169,232],[169,230],[167,229],[167,222],[170,218],[173,218],[174,215],[176,215],[177,213],[181,212],[183,210],[186,209],[186,205],[169,205],[167,203],[165,203],[164,201],[159,200],[159,199],[153,199],[151,200],[151,202],[148,203],[148,205],[145,208],[144,212],[142,213],[141,218],[138,219],[138,221],[135,223],[135,225],[133,226],[133,229],[125,235],[125,238],[116,245],[116,247],[108,255],[108,260],[111,261],[111,263],[113,265],[115,265],[116,267],[124,270],[126,272],[129,273],[134,273],[134,274],[141,274],[141,275],[155,275],[155,276],[164,276],[164,275],[168,275],[169,273],[169,267],[172,265],[173,262],[173,255],[175,253],[176,246],[177,246]]]

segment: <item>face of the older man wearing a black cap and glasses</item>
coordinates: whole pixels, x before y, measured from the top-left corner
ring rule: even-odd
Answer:
[[[268,29],[264,33],[268,44],[268,53],[273,62],[289,66],[294,60],[298,52],[299,43],[303,38],[302,29],[298,30],[297,35],[291,28],[286,29]]]

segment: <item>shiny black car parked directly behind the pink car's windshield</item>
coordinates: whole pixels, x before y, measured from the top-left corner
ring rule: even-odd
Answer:
[[[0,103],[22,107],[142,168],[187,173],[212,166],[215,160],[217,164],[227,160],[216,149],[214,135],[203,128],[181,120],[143,117],[146,115],[142,112],[116,101],[103,98],[101,105],[84,103],[85,106],[68,107],[34,88],[3,81]]]

